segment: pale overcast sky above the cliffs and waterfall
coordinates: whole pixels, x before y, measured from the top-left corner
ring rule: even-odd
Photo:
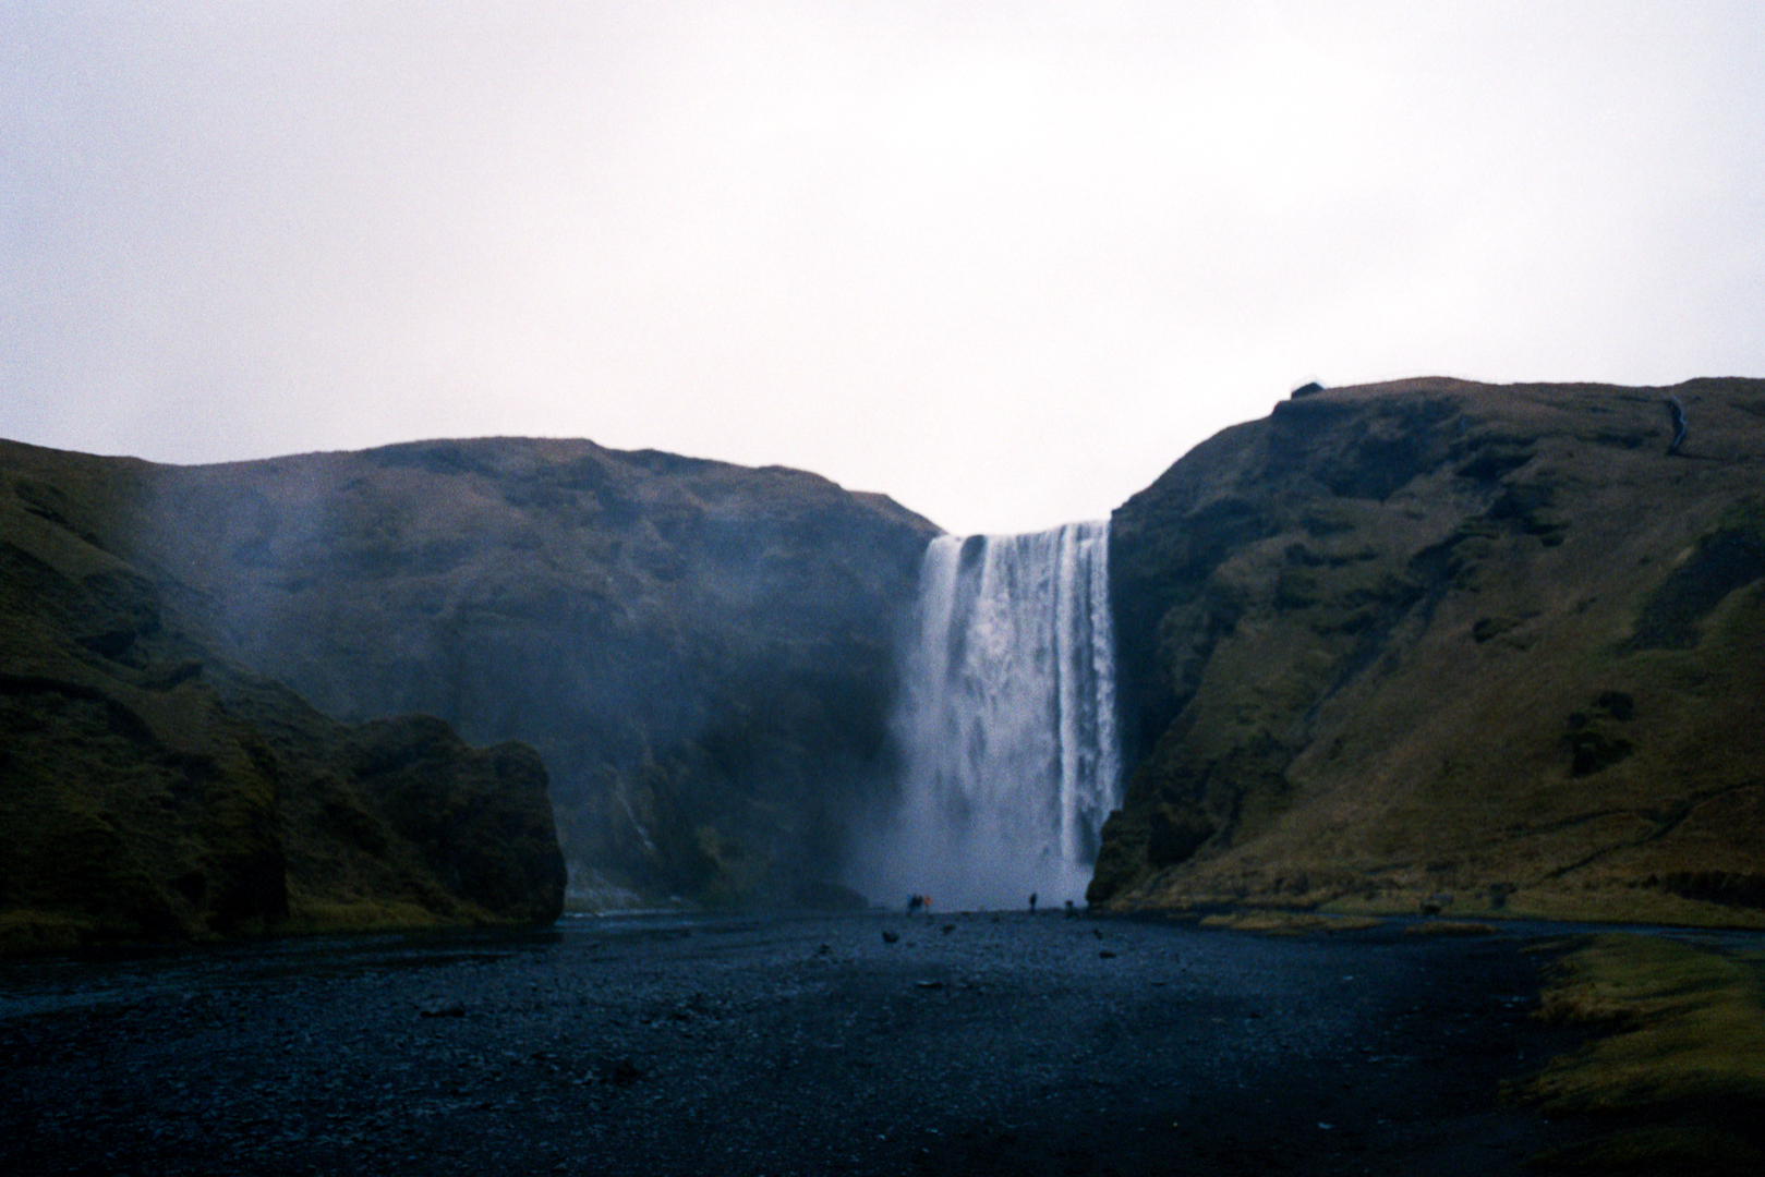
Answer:
[[[1765,4],[0,0],[0,436],[1101,517],[1308,379],[1765,376]]]

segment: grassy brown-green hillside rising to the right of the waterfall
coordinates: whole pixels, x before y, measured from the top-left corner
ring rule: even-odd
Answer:
[[[1110,572],[1094,902],[1761,918],[1765,381],[1310,392]]]

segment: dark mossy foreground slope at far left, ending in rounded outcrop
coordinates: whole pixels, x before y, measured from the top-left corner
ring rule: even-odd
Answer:
[[[101,538],[141,471],[0,450],[0,951],[556,918],[533,750],[346,727],[194,639]]]

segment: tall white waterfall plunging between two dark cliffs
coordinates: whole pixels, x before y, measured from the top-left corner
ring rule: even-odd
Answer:
[[[1084,902],[1119,803],[1108,524],[939,536],[900,651],[898,806],[851,882],[935,909]]]

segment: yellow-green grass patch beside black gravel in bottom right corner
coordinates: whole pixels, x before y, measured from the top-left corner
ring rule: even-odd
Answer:
[[[1765,1172],[1765,1004],[1754,967],[1652,935],[1569,953],[1539,1018],[1604,1031],[1509,1094],[1624,1128],[1537,1158],[1626,1173]]]

